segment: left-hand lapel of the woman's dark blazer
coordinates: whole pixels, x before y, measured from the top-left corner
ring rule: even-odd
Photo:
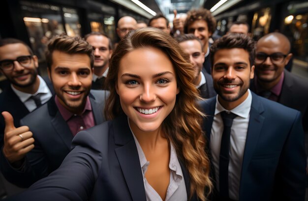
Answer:
[[[132,200],[146,201],[139,155],[128,126],[127,117],[122,116],[116,119],[113,124],[113,130],[115,144],[122,145],[115,151]]]

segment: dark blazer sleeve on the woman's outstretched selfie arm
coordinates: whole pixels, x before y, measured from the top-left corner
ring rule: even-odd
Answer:
[[[101,145],[89,132],[82,131],[75,136],[72,147],[59,169],[9,200],[88,200],[101,167]]]

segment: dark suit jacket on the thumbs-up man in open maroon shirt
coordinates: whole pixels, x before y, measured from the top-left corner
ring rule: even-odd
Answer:
[[[91,90],[89,95],[95,125],[106,121],[103,115],[106,94],[105,91]],[[34,149],[27,153],[21,170],[12,168],[1,150],[0,168],[4,177],[11,183],[29,187],[61,165],[70,151],[73,135],[58,110],[55,97],[23,118],[21,125],[29,126],[33,133]]]

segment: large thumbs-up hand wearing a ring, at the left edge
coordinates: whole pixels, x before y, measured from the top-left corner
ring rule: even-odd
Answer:
[[[32,132],[28,126],[16,128],[9,112],[1,114],[5,122],[3,154],[11,164],[20,162],[34,148]]]

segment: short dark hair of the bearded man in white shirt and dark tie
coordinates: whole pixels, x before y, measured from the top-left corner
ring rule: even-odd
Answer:
[[[218,38],[210,48],[210,57],[212,67],[214,65],[214,56],[216,51],[222,49],[241,48],[249,53],[250,67],[254,64],[255,42],[249,36],[243,33],[229,33]]]

